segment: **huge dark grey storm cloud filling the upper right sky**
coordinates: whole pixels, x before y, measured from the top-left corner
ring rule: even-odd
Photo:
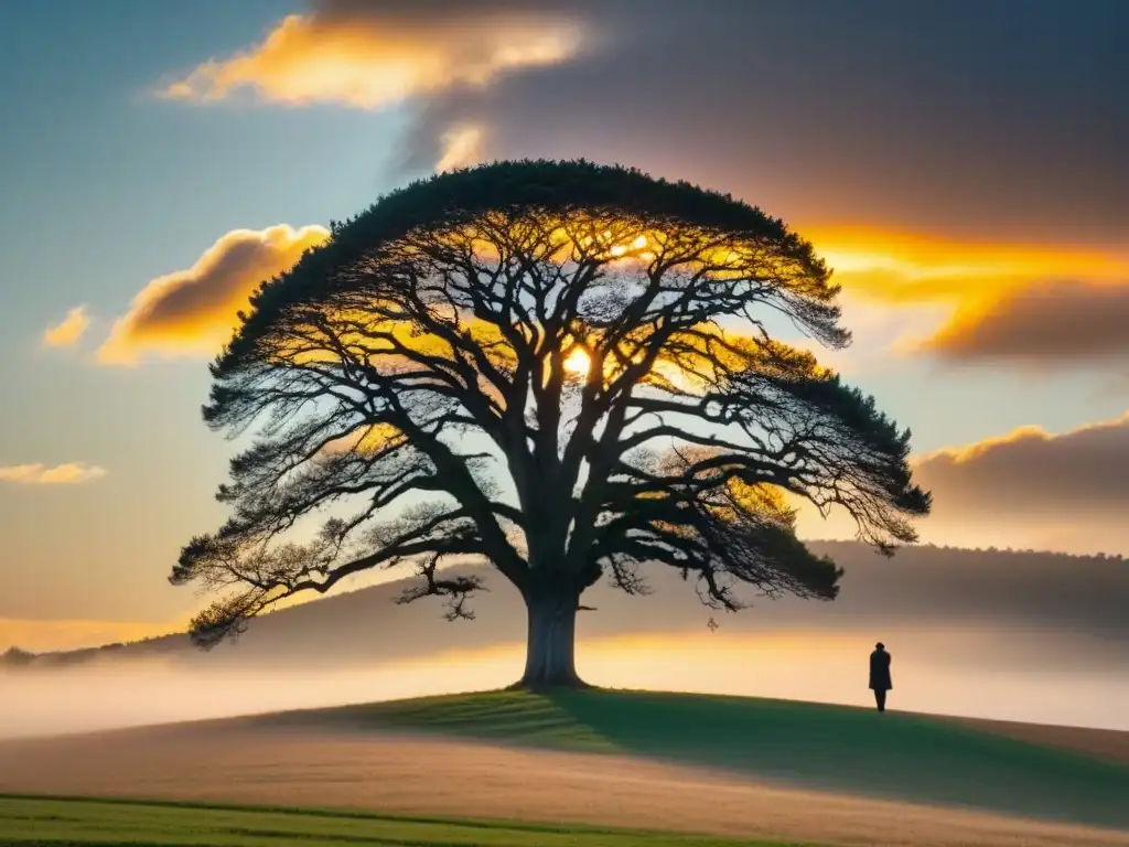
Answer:
[[[517,3],[427,2],[412,16]],[[330,2],[380,16],[408,5]],[[586,156],[774,213],[1117,243],[1129,228],[1129,3],[537,3],[606,44],[419,104],[413,163],[480,123],[489,158]],[[402,14],[402,12],[401,12]]]

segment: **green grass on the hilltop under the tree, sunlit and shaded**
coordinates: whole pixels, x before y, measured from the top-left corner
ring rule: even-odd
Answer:
[[[272,721],[625,753],[855,794],[1129,828],[1129,768],[922,716],[738,697],[491,692]]]

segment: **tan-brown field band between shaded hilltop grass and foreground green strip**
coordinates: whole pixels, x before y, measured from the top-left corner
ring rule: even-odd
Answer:
[[[0,792],[371,809],[904,847],[1129,847],[1129,832],[787,788],[614,754],[212,723],[0,744]]]

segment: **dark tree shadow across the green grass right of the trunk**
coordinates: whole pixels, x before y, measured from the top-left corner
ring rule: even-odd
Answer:
[[[1129,768],[913,715],[736,697],[561,691],[616,749],[834,791],[1129,828]]]

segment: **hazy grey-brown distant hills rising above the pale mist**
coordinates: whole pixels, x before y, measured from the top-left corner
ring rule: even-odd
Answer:
[[[889,614],[904,619],[955,621],[970,615],[1003,615],[1018,622],[1058,626],[1065,630],[1093,629],[1122,640],[1129,639],[1119,604],[1129,590],[1129,571],[1115,565],[1118,553],[1078,556],[1012,548],[959,548],[917,544],[903,548],[893,560],[882,560],[873,549],[854,541],[808,541],[817,552],[830,555],[846,569],[844,592],[830,608],[821,603],[764,604],[734,615],[734,623],[747,626],[771,619],[777,625],[805,618],[824,625],[879,622]],[[1114,567],[1111,568],[1111,565]],[[463,566],[465,568],[465,566]],[[457,568],[457,569],[463,569]],[[612,588],[596,586],[592,604],[602,612],[583,623],[589,635],[615,635],[632,628],[655,631],[694,627],[701,608],[693,591],[669,584],[662,573],[646,575],[662,588],[654,597],[627,597]],[[664,582],[665,580],[665,582]],[[449,648],[453,640],[473,648],[496,644],[524,631],[524,615],[516,595],[492,584],[479,601],[482,614],[470,630],[456,636],[425,609],[397,606],[393,600],[408,580],[397,580],[353,591],[341,591],[309,603],[282,609],[252,625],[240,639],[242,658],[273,662],[278,657],[315,656],[321,661],[385,661],[423,657]],[[585,595],[585,601],[588,602]],[[1010,615],[1008,618],[1008,615]],[[244,639],[246,644],[244,645]],[[1129,643],[1127,643],[1129,647]],[[62,669],[103,658],[175,658],[177,662],[213,662],[234,657],[227,649],[207,658],[192,647],[184,634],[169,634],[133,641],[115,641],[100,647],[32,653],[18,646],[0,654],[0,667],[8,670]]]

